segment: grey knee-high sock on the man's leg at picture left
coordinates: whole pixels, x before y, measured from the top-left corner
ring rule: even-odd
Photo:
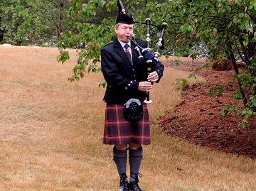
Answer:
[[[125,150],[117,150],[117,148],[114,146],[113,148],[113,154],[114,154],[114,163],[117,165],[117,170],[119,175],[122,175],[122,173],[127,173],[127,149]]]

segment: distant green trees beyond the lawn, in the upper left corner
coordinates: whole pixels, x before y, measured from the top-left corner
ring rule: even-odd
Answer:
[[[68,29],[69,6],[62,0],[1,1],[0,43],[56,44],[62,31]]]

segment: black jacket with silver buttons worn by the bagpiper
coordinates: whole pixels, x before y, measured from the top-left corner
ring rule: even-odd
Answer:
[[[143,41],[138,40],[137,43],[142,48],[146,48],[146,43]],[[107,103],[125,104],[131,98],[137,98],[141,102],[146,99],[146,92],[138,90],[139,82],[147,81],[146,62],[140,64],[133,43],[131,48],[133,66],[117,39],[101,50],[102,73],[107,82],[103,100]],[[151,71],[156,71],[160,80],[164,65],[156,62]]]

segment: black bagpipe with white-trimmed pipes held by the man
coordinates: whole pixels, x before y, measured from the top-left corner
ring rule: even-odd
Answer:
[[[126,10],[124,9],[124,4],[122,3],[121,0],[117,1],[117,6],[119,9],[119,13],[124,13],[127,14]],[[137,54],[139,56],[139,62],[143,63],[146,61],[146,70],[147,70],[147,74],[149,75],[149,73],[151,72],[151,68],[152,65],[156,65],[156,62],[159,62],[158,58],[159,58],[159,50],[163,50],[164,49],[164,32],[166,31],[167,28],[167,23],[162,23],[161,26],[161,34],[159,37],[158,42],[156,43],[157,48],[156,48],[156,52],[151,53],[151,48],[150,48],[150,18],[146,18],[146,23],[141,23],[141,24],[146,24],[146,48],[142,48],[137,42],[134,36],[129,37],[127,36],[127,38],[129,38],[129,40],[131,40],[131,42],[134,44],[134,49],[137,51]],[[134,23],[139,23],[139,22],[134,22]],[[159,28],[159,26],[156,26]],[[152,82],[151,82],[152,83]],[[145,103],[149,104],[152,101],[149,99],[149,92],[146,92],[146,100],[144,101]]]

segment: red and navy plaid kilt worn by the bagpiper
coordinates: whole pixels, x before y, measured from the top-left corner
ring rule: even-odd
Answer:
[[[107,104],[105,112],[105,131],[103,143],[117,144],[150,144],[149,113],[142,102],[144,116],[139,121],[127,121],[124,118],[123,104]]]

